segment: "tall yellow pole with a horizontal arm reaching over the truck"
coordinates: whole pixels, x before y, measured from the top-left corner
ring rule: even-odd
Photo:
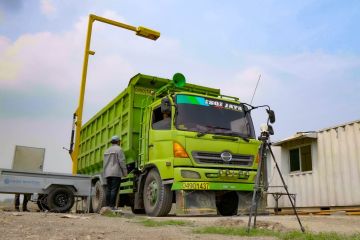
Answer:
[[[130,31],[133,31],[136,33],[136,35],[145,37],[151,40],[156,40],[160,37],[160,33],[157,31],[154,31],[149,28],[145,28],[142,26],[134,27],[128,24],[124,24],[121,22],[116,22],[111,19],[99,17],[93,14],[89,15],[89,23],[88,23],[88,30],[86,35],[86,44],[85,44],[85,52],[84,52],[84,63],[83,63],[83,69],[82,69],[82,75],[81,75],[81,86],[80,86],[80,96],[79,96],[79,104],[77,109],[74,113],[74,119],[73,119],[73,129],[71,134],[71,142],[70,142],[70,150],[69,153],[71,155],[72,159],[72,173],[77,173],[77,166],[78,166],[78,155],[79,155],[79,147],[80,147],[80,131],[82,127],[82,113],[83,113],[83,107],[84,107],[84,97],[85,97],[85,85],[86,85],[86,76],[87,76],[87,68],[88,68],[88,62],[89,62],[89,54],[94,55],[95,52],[90,50],[90,41],[91,41],[91,33],[92,33],[92,26],[94,21],[99,21],[103,23],[107,23],[116,27],[124,28]],[[75,131],[75,136],[74,136]],[[74,137],[75,137],[75,144],[74,144]],[[74,149],[73,149],[73,145]]]

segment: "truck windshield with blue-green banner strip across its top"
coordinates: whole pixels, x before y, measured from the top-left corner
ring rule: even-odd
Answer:
[[[192,95],[176,95],[176,128],[200,134],[253,137],[250,114],[243,105]]]

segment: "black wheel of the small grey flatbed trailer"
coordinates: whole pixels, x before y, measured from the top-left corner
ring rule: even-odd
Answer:
[[[68,212],[74,205],[74,193],[66,187],[57,187],[47,197],[47,205],[52,212]]]

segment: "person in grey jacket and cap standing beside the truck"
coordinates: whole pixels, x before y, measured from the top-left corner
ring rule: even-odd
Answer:
[[[119,192],[121,177],[127,176],[125,155],[120,147],[120,138],[111,138],[111,147],[104,153],[104,172],[106,179],[106,206],[115,209],[116,197]]]

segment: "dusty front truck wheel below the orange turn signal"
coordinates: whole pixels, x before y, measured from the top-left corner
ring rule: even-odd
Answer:
[[[143,199],[145,212],[149,216],[166,216],[172,206],[172,192],[170,185],[164,185],[156,169],[152,169],[146,176]]]

